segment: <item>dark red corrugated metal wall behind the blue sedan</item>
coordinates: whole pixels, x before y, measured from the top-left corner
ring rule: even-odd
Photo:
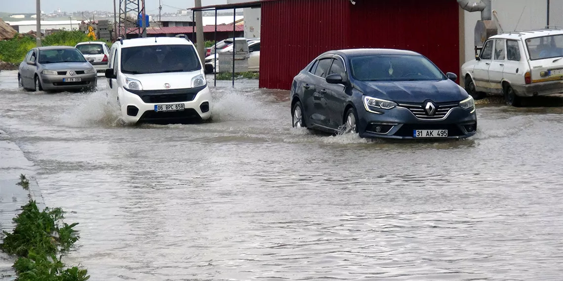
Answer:
[[[279,0],[262,3],[260,87],[289,89],[325,51],[400,48],[459,72],[459,7],[453,0]]]

